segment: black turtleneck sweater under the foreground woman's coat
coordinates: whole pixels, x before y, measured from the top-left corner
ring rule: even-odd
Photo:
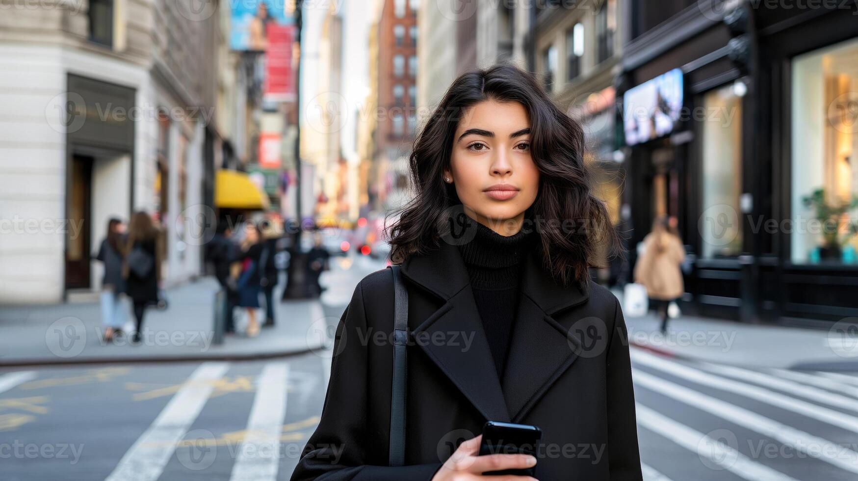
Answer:
[[[492,358],[503,380],[507,350],[516,318],[518,289],[524,256],[533,240],[532,228],[505,236],[480,222],[474,239],[459,246],[468,269],[474,301],[480,312]]]

